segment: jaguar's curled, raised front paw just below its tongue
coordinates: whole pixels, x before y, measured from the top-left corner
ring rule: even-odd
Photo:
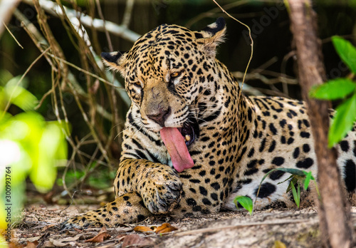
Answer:
[[[174,172],[157,173],[159,174],[155,175],[154,180],[146,183],[145,193],[141,196],[152,214],[167,214],[174,209],[182,197],[182,182]]]

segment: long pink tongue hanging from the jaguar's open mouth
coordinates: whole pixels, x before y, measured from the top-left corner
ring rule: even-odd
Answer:
[[[163,143],[171,156],[174,169],[177,172],[182,172],[185,169],[192,168],[194,162],[178,128],[162,128],[159,133],[161,133]]]

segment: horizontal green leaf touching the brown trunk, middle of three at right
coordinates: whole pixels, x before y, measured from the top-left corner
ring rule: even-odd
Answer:
[[[355,91],[356,83],[349,78],[337,78],[313,87],[309,95],[311,98],[322,100],[335,100],[345,98]]]

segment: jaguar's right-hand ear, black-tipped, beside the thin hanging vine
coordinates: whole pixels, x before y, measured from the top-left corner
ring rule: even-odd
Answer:
[[[224,41],[225,31],[225,20],[223,17],[219,17],[214,23],[206,26],[201,31],[195,32],[195,37],[199,43],[203,44],[206,53],[214,57],[216,55],[216,46]]]

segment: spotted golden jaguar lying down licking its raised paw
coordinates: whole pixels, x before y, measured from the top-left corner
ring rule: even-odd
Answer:
[[[114,227],[152,215],[182,218],[236,210],[247,196],[255,209],[293,206],[288,173],[317,175],[315,140],[301,100],[248,96],[216,59],[223,18],[200,31],[162,24],[130,51],[102,53],[125,78],[132,104],[122,133],[115,200],[63,226]],[[332,114],[332,113],[331,113]],[[335,146],[347,192],[355,193],[356,125]],[[260,185],[262,178],[268,176]]]

